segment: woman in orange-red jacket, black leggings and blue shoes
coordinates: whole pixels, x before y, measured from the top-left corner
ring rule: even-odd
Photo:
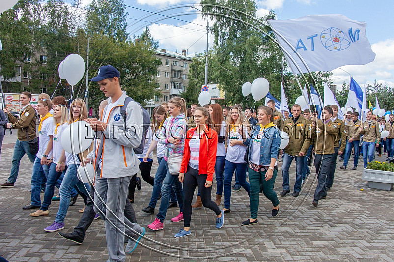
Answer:
[[[184,228],[175,234],[176,238],[190,235],[192,200],[197,185],[201,194],[202,205],[216,213],[216,228],[221,228],[224,223],[224,212],[211,200],[218,134],[212,128],[213,122],[206,108],[196,108],[194,121],[197,127],[186,133],[185,149],[179,173],[179,181],[183,182]]]

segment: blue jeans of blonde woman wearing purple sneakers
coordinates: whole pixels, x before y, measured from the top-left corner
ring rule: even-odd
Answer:
[[[75,164],[67,166],[67,171],[64,174],[63,181],[61,182],[59,190],[60,205],[55,218],[55,222],[57,223],[64,222],[68,206],[70,205],[71,192],[73,191],[74,186],[77,186],[78,189],[86,195],[86,197],[89,195],[89,192],[86,191],[84,184],[77,177],[77,169],[78,165]],[[90,190],[90,188],[87,188],[87,190]]]

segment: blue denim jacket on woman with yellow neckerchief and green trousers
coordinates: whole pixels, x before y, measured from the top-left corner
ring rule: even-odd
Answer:
[[[257,137],[259,132],[260,125],[256,125],[252,130],[251,137],[247,138],[244,142],[244,145],[249,147],[248,162],[252,154],[252,139]],[[261,138],[259,165],[268,166],[271,163],[271,158],[278,159],[280,145],[281,137],[279,136],[278,129],[275,127],[266,128],[264,130],[264,136]]]

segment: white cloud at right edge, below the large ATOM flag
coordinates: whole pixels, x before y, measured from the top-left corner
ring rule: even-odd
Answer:
[[[375,60],[366,65],[342,66],[349,72],[360,86],[372,84],[376,79],[379,83],[394,87],[394,39],[387,39],[372,45],[376,53]],[[337,68],[333,70],[334,84],[341,86],[343,82],[349,83],[349,74]]]

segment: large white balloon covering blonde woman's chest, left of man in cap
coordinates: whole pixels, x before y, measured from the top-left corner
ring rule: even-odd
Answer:
[[[93,141],[93,130],[85,121],[68,125],[61,133],[60,143],[71,154],[78,154],[88,149]]]

